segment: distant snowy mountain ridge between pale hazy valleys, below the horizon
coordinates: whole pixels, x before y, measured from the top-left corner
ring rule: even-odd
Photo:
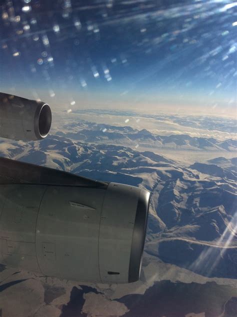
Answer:
[[[213,137],[192,137],[188,134],[157,135],[147,129],[138,130],[131,126],[96,124],[84,120],[65,124],[62,131],[58,131],[56,134],[72,140],[103,144],[112,142],[185,150],[236,151],[237,149],[237,140],[231,138],[218,140]]]

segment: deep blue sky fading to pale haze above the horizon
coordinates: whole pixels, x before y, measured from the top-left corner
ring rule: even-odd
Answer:
[[[236,115],[237,2],[2,0],[0,91],[58,108]]]

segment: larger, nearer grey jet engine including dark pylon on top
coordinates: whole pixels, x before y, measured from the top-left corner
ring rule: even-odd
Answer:
[[[139,279],[148,191],[7,158],[0,169],[0,263],[78,281]]]

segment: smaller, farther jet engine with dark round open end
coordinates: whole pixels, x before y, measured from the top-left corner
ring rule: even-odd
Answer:
[[[42,139],[50,126],[51,110],[47,103],[0,92],[0,137]]]

